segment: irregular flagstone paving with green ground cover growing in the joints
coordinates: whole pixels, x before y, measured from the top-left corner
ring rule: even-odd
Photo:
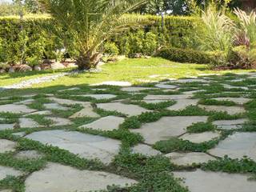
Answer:
[[[226,76],[170,79],[150,86],[102,82],[86,91],[70,87],[47,93],[50,102],[42,102],[42,110],[33,109],[32,104],[40,102],[36,94],[14,102],[0,98],[9,103],[0,105],[0,180],[26,175],[25,192],[134,187],[142,178],[115,166],[116,158],[125,153],[165,158],[174,165],[170,175],[182,178],[177,183],[191,192],[255,192],[256,182],[248,180],[255,167],[236,174],[221,172],[222,167],[199,168],[227,157],[246,158],[256,165],[256,90],[255,84],[246,84],[247,78],[256,82],[255,74],[241,74],[234,81]],[[223,91],[214,90],[217,82]],[[217,104],[202,103],[206,98]],[[234,103],[229,106],[226,101]],[[135,136],[141,140],[134,142]],[[133,144],[126,146],[129,139]],[[19,167],[30,161],[46,163],[32,170]],[[101,166],[95,169],[92,162]],[[197,170],[192,169],[195,165]],[[0,185],[0,191],[13,190]]]

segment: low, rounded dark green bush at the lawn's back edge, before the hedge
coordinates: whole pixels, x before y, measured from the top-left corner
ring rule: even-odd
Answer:
[[[207,64],[212,62],[211,54],[198,50],[184,50],[178,48],[165,48],[156,54],[157,57],[166,58],[173,62],[190,62]]]

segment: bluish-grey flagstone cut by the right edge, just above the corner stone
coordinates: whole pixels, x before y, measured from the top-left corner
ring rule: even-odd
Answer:
[[[230,158],[243,158],[247,156],[256,161],[256,133],[234,133],[218,143],[210,154],[218,157],[228,155]]]

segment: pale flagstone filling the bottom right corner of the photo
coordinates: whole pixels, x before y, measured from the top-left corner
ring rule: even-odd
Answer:
[[[244,174],[226,174],[202,170],[174,172],[176,178],[184,178],[184,186],[190,192],[254,192],[256,182],[248,181]]]

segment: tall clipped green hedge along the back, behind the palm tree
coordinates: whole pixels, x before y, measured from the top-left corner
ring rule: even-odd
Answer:
[[[187,39],[193,33],[194,27],[201,23],[199,18],[166,16],[162,29],[160,16],[145,15],[144,17],[150,23],[142,29],[144,36],[135,37],[139,34],[138,30],[130,30],[111,38],[110,42],[118,46],[120,54],[130,55],[137,52],[151,54],[147,52],[154,50],[154,46],[162,45],[186,48]],[[63,55],[58,51],[72,42],[72,39],[57,38],[53,34],[47,34],[42,27],[38,27],[47,26],[52,22],[54,22],[53,19],[46,15],[26,16],[23,22],[18,17],[0,17],[0,50],[3,50],[0,54],[0,62],[17,63],[22,59],[34,65],[42,58],[62,59],[74,56],[74,50],[66,50]],[[138,42],[142,37],[145,37],[140,42],[142,45],[137,46],[142,46],[144,51],[146,49],[146,53],[134,46],[134,42]],[[130,46],[127,46],[126,42],[130,42]]]

